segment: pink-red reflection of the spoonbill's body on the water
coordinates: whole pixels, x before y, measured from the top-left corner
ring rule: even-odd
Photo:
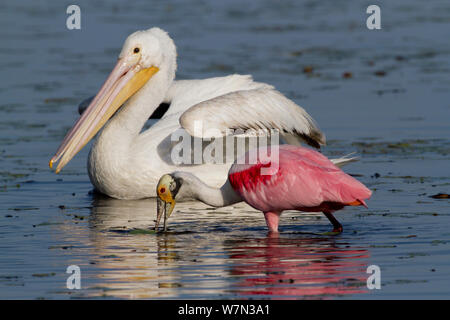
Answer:
[[[283,236],[227,242],[238,295],[304,299],[367,293],[366,249],[337,244],[333,237]]]

